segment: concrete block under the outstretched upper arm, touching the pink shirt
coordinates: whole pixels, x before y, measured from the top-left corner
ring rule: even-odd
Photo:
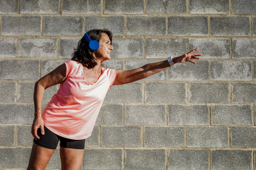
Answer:
[[[104,102],[106,103],[141,103],[142,102],[142,84],[129,83],[125,85],[112,86]]]

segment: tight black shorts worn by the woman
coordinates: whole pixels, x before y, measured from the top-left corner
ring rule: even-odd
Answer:
[[[72,148],[72,149],[84,149],[85,139],[82,139],[82,140],[67,139],[65,137],[61,137],[54,134],[45,126],[44,128],[45,128],[45,135],[41,134],[40,128],[37,129],[37,135],[40,137],[40,139],[37,139],[37,140],[34,139],[34,143],[36,143],[37,145],[42,146],[44,148],[48,148],[48,149],[56,149],[60,140],[61,147]]]

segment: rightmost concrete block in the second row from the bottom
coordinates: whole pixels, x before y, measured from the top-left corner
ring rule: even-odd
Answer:
[[[256,147],[256,128],[231,127],[231,147]]]

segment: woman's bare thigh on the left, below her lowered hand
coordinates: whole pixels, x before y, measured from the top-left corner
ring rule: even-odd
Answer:
[[[54,151],[33,143],[27,170],[45,170]]]

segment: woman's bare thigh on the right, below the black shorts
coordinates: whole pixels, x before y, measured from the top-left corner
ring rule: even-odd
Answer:
[[[60,147],[61,170],[80,170],[84,149]]]

